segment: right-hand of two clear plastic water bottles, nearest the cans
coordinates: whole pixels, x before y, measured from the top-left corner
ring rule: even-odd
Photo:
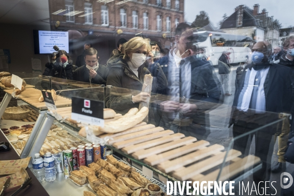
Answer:
[[[44,168],[45,168],[45,180],[47,182],[52,182],[56,179],[56,170],[54,164],[54,157],[51,152],[46,152],[44,158]]]

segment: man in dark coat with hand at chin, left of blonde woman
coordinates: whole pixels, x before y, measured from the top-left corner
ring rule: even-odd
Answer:
[[[81,82],[106,85],[109,70],[104,65],[99,65],[97,50],[94,48],[85,50],[86,65],[75,70],[73,79]]]

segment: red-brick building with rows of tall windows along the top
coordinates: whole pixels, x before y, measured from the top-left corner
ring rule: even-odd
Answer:
[[[141,32],[170,48],[176,25],[184,22],[184,0],[49,0],[49,13],[51,30],[70,32],[74,61],[85,40],[108,57],[120,38]]]

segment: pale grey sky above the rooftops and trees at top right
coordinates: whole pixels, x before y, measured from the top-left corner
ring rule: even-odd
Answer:
[[[223,14],[230,16],[235,12],[235,7],[246,5],[253,9],[254,4],[259,4],[259,12],[266,9],[268,16],[278,19],[287,28],[294,26],[292,0],[185,0],[185,21],[193,22],[201,10],[208,13],[211,23],[218,26]]]

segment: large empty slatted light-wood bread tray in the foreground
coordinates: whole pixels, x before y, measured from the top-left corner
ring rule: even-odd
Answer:
[[[195,137],[185,137],[182,133],[164,130],[152,124],[138,124],[126,131],[99,137],[105,136],[113,138],[108,145],[181,181],[215,181],[226,154],[221,145],[210,145],[207,141],[197,141]],[[229,150],[221,180],[260,163],[258,157],[249,155],[240,158],[240,155],[238,150]]]

